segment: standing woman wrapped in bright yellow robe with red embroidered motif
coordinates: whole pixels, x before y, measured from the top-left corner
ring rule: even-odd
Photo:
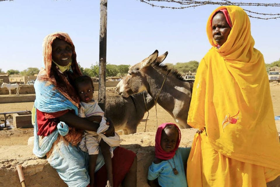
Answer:
[[[199,64],[188,113],[188,124],[203,130],[188,158],[188,186],[266,186],[280,175],[280,144],[248,15],[221,6],[206,32],[213,47]]]

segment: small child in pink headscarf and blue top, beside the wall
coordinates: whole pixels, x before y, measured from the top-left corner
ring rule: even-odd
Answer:
[[[174,123],[163,123],[155,135],[155,159],[149,167],[148,184],[154,186],[188,186],[185,162],[190,148],[178,148],[181,131]]]

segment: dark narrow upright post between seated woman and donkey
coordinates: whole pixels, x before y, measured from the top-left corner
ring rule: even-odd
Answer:
[[[107,45],[107,0],[100,0],[98,104],[104,112],[105,112],[105,104],[106,104],[106,45]]]

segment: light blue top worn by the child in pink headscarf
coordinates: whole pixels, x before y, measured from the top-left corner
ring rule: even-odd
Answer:
[[[168,160],[169,162],[167,160],[164,160],[158,164],[153,162],[149,167],[148,180],[152,181],[157,178],[159,185],[162,187],[188,186],[184,166],[188,160],[189,154],[190,147],[179,147],[176,150],[173,158],[178,171],[177,175],[175,175],[172,170],[172,168],[174,168],[174,162],[172,158]],[[172,165],[172,168],[169,163]]]

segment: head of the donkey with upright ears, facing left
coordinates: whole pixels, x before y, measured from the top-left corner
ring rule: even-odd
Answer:
[[[163,55],[158,56],[158,51],[155,50],[153,54],[140,63],[129,67],[127,75],[116,86],[118,94],[122,97],[128,97],[134,93],[147,90],[145,86],[147,83],[145,76],[147,68],[152,63],[161,63],[166,58],[167,54],[168,52],[165,52]]]

